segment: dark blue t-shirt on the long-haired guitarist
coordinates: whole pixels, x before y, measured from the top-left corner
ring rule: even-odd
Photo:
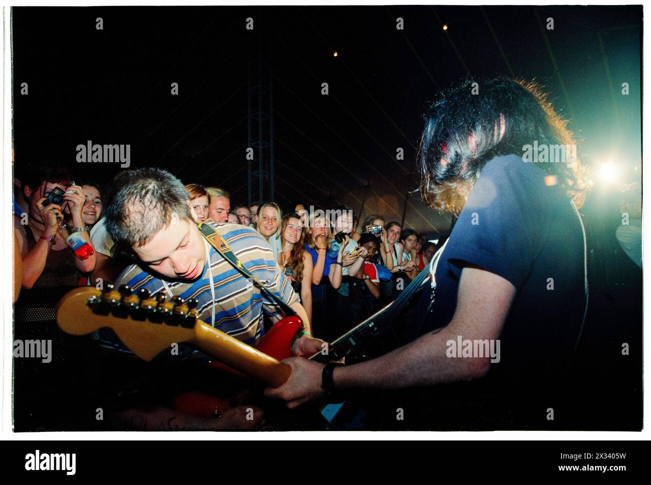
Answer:
[[[583,229],[566,191],[546,176],[514,155],[486,164],[441,255],[432,311],[429,284],[417,307],[426,333],[452,320],[464,266],[510,281],[516,296],[492,378],[553,377],[568,365],[583,324]]]

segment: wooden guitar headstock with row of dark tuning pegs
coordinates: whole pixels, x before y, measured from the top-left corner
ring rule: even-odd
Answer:
[[[111,284],[104,290],[80,286],[59,301],[57,323],[72,335],[109,327],[133,353],[150,361],[171,344],[192,339],[197,303],[193,298],[152,295],[144,288],[134,293],[126,285],[118,290]]]

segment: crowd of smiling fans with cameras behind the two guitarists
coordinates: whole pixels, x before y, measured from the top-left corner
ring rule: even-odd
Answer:
[[[133,261],[119,251],[106,230],[102,187],[94,182],[76,184],[57,165],[31,167],[29,173],[30,178],[15,180],[20,190],[14,204],[25,295],[49,288],[47,301],[38,300],[40,307],[53,308],[74,284],[115,281]],[[65,192],[64,202],[44,206],[57,187]],[[387,223],[380,214],[368,215],[359,226],[359,217],[343,205],[327,210],[307,202],[284,208],[273,201],[235,205],[223,188],[199,183],[185,188],[197,221],[238,224],[260,233],[298,294],[314,335],[326,340],[339,337],[395,299],[425,268],[436,247],[426,234],[403,229],[397,221]],[[64,219],[70,219],[92,247],[87,259],[77,258],[66,247],[59,231]],[[25,296],[19,309],[23,301]]]

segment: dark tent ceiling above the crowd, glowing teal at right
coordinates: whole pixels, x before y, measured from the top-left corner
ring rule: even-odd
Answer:
[[[12,12],[18,169],[29,160],[64,161],[73,178],[107,182],[118,166],[78,164],[76,146],[130,144],[132,167],[164,167],[185,183],[225,187],[233,206],[245,202],[247,60],[263,35],[274,74],[281,206],[293,199],[321,206],[339,201],[357,212],[366,201],[365,214],[378,210],[400,220],[406,190],[417,187],[409,171],[424,106],[468,74],[536,79],[571,118],[587,163],[613,159],[627,180],[641,171],[633,174],[633,167],[641,169],[641,7]],[[554,18],[554,30],[545,31],[549,48],[537,16]],[[97,17],[103,31],[95,28]],[[254,18],[253,32],[245,29],[247,17]],[[397,17],[404,18],[404,31],[396,30]],[[20,94],[23,82],[27,96]],[[178,96],[170,94],[173,82]],[[329,83],[328,96],[320,93],[322,82]],[[623,82],[629,96],[620,92]],[[404,161],[395,159],[398,147]],[[416,199],[406,220],[422,231],[449,228]]]

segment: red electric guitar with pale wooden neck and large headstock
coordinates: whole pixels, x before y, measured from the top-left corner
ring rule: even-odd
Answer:
[[[113,329],[122,343],[145,361],[170,350],[173,344],[187,343],[215,357],[219,362],[210,366],[219,370],[240,372],[271,387],[289,378],[290,367],[280,360],[293,355],[292,342],[302,327],[298,317],[286,317],[274,324],[253,348],[198,320],[196,306],[195,299],[168,299],[165,294],[152,295],[144,288],[134,294],[126,285],[118,291],[109,284],[105,290],[92,286],[70,290],[57,304],[56,313],[59,327],[72,335],[85,335],[102,327]],[[367,333],[377,331],[371,317],[309,358],[320,363],[339,360]],[[174,407],[187,414],[210,417],[223,413],[230,402],[202,393],[183,393],[174,399]]]

